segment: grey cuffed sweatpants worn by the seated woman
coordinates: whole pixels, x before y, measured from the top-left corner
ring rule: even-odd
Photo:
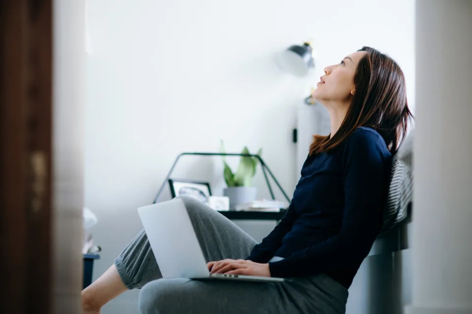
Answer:
[[[182,196],[207,262],[246,259],[257,242],[229,219]],[[281,283],[162,278],[144,231],[115,260],[123,283],[142,288],[143,314],[345,313],[348,290],[325,274]]]

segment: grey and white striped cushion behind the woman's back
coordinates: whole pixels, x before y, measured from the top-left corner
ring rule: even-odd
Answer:
[[[385,234],[408,218],[408,208],[413,201],[413,131],[400,145],[392,158],[392,171],[387,201],[383,211]]]

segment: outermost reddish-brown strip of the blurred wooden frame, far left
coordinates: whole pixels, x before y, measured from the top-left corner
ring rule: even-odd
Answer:
[[[26,313],[27,224],[26,179],[27,154],[24,116],[21,54],[21,15],[23,1],[1,1],[0,8],[0,269],[5,284],[0,294],[1,308]],[[12,312],[14,313],[14,312]]]

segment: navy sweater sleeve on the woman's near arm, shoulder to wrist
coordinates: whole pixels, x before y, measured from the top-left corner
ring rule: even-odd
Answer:
[[[382,227],[385,144],[370,131],[354,131],[343,148],[343,221],[338,234],[269,262],[272,277],[305,277],[360,264]]]

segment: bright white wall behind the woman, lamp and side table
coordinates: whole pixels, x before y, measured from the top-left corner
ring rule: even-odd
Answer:
[[[325,65],[363,45],[388,52],[413,102],[413,1],[390,3],[89,1],[85,204],[98,216],[93,235],[103,248],[94,277],[141,228],[136,208],[152,201],[180,152],[216,151],[220,138],[230,152],[262,147],[292,196],[295,106]],[[282,73],[276,53],[309,38],[317,42],[315,74]],[[176,176],[188,172],[221,191],[220,159],[187,159]],[[256,184],[267,196],[260,177]],[[103,313],[118,313],[118,306],[131,313],[136,295]]]

